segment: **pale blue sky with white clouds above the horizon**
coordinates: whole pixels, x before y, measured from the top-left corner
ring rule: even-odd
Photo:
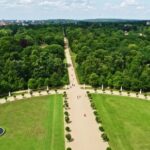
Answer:
[[[0,0],[0,19],[148,19],[150,0]]]

